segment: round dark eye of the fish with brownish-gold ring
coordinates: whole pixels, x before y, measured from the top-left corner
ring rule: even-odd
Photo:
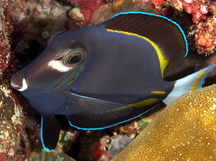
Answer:
[[[86,50],[82,48],[76,48],[76,49],[71,49],[68,52],[66,52],[64,58],[63,58],[63,63],[66,66],[75,66],[79,65],[84,61],[86,57]]]

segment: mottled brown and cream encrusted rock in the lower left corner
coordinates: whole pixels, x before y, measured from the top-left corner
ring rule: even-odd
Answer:
[[[23,160],[30,153],[22,108],[0,86],[0,160]],[[24,143],[24,144],[23,144]]]

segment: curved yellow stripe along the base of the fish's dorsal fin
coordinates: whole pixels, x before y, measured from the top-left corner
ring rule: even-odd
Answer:
[[[163,73],[164,70],[166,68],[166,66],[169,63],[169,60],[167,60],[164,55],[162,54],[162,51],[160,50],[159,46],[157,46],[157,44],[155,44],[153,41],[151,41],[150,39],[148,39],[147,37],[135,34],[135,33],[131,33],[131,32],[125,32],[125,31],[118,31],[118,30],[112,30],[112,29],[106,29],[108,32],[116,32],[116,33],[122,33],[122,34],[126,34],[126,35],[133,35],[133,36],[137,36],[139,38],[142,38],[146,41],[148,41],[156,50],[156,53],[158,55],[158,59],[160,62],[160,70],[161,70],[161,76],[163,77]]]

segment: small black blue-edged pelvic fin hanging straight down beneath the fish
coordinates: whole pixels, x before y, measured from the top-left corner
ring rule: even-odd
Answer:
[[[54,115],[41,117],[40,137],[43,148],[46,151],[51,152],[55,149],[58,143],[60,129],[60,124]]]

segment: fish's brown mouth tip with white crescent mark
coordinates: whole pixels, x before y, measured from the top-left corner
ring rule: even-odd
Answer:
[[[23,78],[20,73],[13,75],[11,78],[11,86],[18,91],[24,91],[28,88],[25,78]]]

